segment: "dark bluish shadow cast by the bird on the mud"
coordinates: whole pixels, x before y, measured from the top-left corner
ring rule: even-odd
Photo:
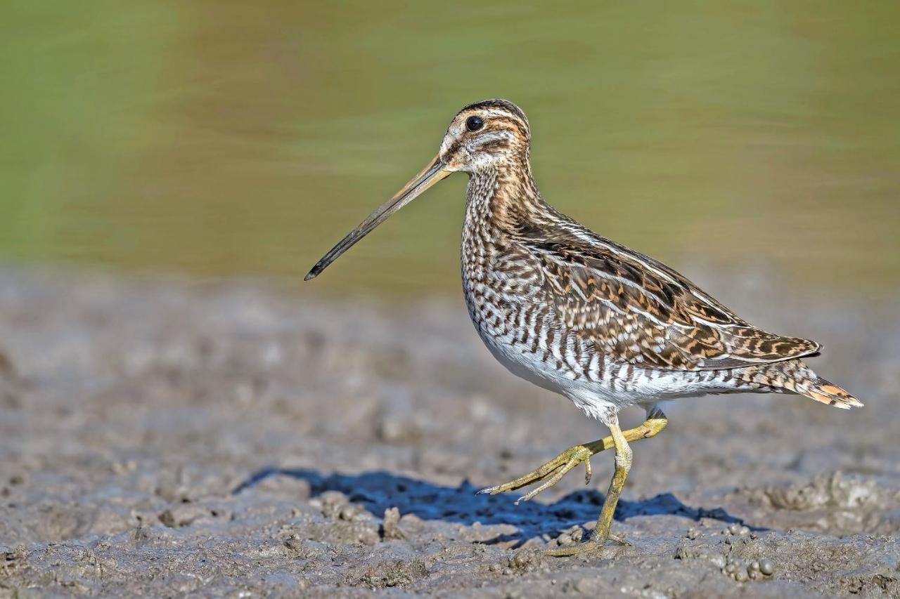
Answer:
[[[257,486],[266,478],[291,477],[307,481],[311,496],[326,491],[340,491],[353,503],[365,506],[373,514],[397,507],[401,514],[415,514],[422,520],[438,520],[472,525],[482,523],[511,524],[517,527],[514,534],[500,535],[493,542],[519,541],[549,534],[555,536],[576,524],[595,520],[603,505],[604,496],[595,490],[581,490],[563,496],[552,504],[529,501],[514,504],[517,495],[476,495],[477,487],[464,480],[458,487],[442,487],[426,480],[398,476],[384,470],[361,474],[323,475],[311,469],[261,469],[247,478],[234,493],[238,494]],[[662,493],[638,501],[620,500],[615,518],[624,522],[644,515],[677,515],[693,521],[703,518],[723,523],[740,523],[743,520],[728,514],[725,509],[707,509],[684,505],[671,493]],[[752,530],[763,530],[751,527]]]

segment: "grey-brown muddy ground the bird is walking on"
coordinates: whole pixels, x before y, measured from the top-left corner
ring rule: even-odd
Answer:
[[[670,405],[633,444],[630,545],[542,559],[612,456],[588,487],[474,495],[602,430],[496,365],[461,301],[4,267],[0,596],[900,596],[897,307],[761,281],[700,282],[824,342],[866,407]]]

